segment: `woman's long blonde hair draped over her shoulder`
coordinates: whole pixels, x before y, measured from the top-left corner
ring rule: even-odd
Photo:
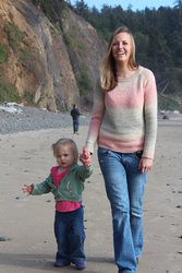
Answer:
[[[108,45],[107,54],[100,66],[100,85],[104,91],[113,90],[118,83],[116,62],[112,56],[112,46],[113,46],[113,39],[116,35],[118,35],[119,33],[128,33],[130,35],[131,43],[132,43],[132,51],[129,58],[129,67],[132,70],[135,70],[138,68],[138,64],[135,61],[135,41],[134,41],[133,35],[125,25],[122,25],[113,32],[110,38],[109,45]]]

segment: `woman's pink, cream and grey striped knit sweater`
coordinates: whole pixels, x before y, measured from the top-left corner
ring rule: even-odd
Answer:
[[[139,67],[104,93],[96,88],[86,147],[95,144],[121,153],[143,150],[154,158],[157,134],[157,88],[153,72]]]

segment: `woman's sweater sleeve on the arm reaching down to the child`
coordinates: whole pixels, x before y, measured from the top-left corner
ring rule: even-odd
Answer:
[[[97,84],[94,93],[94,107],[86,140],[86,149],[90,153],[94,153],[96,146],[104,112],[105,112],[105,94]]]

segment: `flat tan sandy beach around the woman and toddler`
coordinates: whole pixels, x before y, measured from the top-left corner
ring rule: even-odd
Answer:
[[[56,164],[51,144],[73,138],[80,151],[87,127],[0,134],[0,273],[76,272],[53,268],[54,201],[51,193],[26,197],[24,183],[43,181]],[[84,192],[87,269],[117,273],[109,202],[96,153]],[[144,251],[138,273],[182,273],[182,118],[159,120],[154,168],[144,198]]]

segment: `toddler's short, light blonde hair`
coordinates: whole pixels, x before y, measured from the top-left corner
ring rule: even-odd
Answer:
[[[78,159],[78,151],[77,151],[76,143],[71,139],[60,139],[56,143],[53,143],[52,144],[53,155],[57,157],[60,146],[64,146],[64,145],[70,146],[70,150],[74,157],[74,164],[76,164]]]

